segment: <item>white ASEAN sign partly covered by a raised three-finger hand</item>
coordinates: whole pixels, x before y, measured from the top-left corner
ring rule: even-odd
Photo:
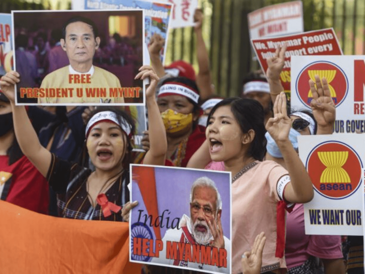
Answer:
[[[310,109],[308,81],[325,77],[336,106],[335,133],[365,132],[365,56],[292,56],[291,107]]]

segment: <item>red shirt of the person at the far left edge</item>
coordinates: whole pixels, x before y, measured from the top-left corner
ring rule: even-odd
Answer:
[[[47,214],[48,182],[26,156],[8,165],[0,155],[0,199],[38,213]]]

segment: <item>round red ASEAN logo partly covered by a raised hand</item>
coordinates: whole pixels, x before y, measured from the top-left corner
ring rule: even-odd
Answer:
[[[348,80],[343,70],[331,62],[316,61],[307,65],[301,70],[299,76],[296,79],[296,93],[300,101],[307,105],[311,104],[313,95],[309,87],[308,81],[312,79],[315,81],[314,76],[318,75],[319,78],[327,79],[328,87],[330,88],[331,97],[335,106],[339,106],[346,98],[347,91],[349,88]]]

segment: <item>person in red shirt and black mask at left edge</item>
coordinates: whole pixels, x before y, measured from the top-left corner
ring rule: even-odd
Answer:
[[[25,111],[24,115],[27,117]],[[0,199],[38,213],[48,213],[47,181],[20,150],[14,133],[11,103],[1,91]]]

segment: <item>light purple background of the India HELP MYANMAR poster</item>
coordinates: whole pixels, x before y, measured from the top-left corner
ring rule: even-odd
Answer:
[[[190,189],[193,182],[200,177],[207,176],[212,179],[219,191],[222,199],[222,228],[223,234],[228,239],[230,235],[230,175],[228,173],[212,172],[207,170],[189,170],[186,168],[164,168],[155,167],[155,179],[157,190],[158,211],[161,214],[165,209],[171,213],[165,212],[164,227],[161,229],[161,237],[166,232],[166,216],[170,217],[170,225],[174,218],[181,218],[183,214],[190,217]],[[138,201],[139,204],[132,210],[131,223],[138,221],[139,209],[146,213],[145,205],[139,191],[138,184],[132,182],[132,201]],[[142,218],[144,221],[145,219]],[[176,222],[176,221],[175,221]],[[174,222],[174,223],[175,223]],[[151,228],[153,233],[153,229]],[[154,236],[155,238],[155,236]]]

